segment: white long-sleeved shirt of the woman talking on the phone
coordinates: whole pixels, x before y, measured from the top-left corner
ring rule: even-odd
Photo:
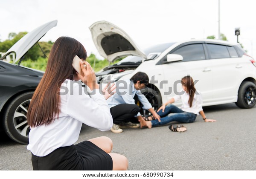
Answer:
[[[59,117],[54,122],[31,127],[27,149],[36,156],[46,156],[59,147],[74,144],[82,123],[101,131],[110,130],[113,125],[108,104],[98,89],[89,95],[80,81],[65,80],[60,99]]]

